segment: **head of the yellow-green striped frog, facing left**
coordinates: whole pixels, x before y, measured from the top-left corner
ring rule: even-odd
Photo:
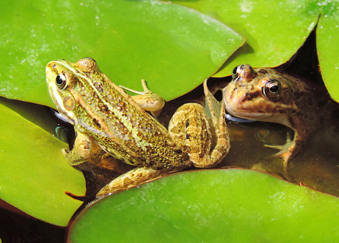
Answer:
[[[77,95],[81,95],[81,90],[77,89],[85,83],[84,79],[98,72],[98,65],[89,57],[75,64],[65,60],[50,61],[46,66],[46,81],[53,102],[62,117],[73,125],[77,122]],[[77,85],[80,80],[82,84]]]

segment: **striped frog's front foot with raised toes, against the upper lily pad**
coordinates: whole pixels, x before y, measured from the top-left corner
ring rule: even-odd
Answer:
[[[136,104],[143,108],[144,110],[150,111],[154,117],[157,117],[160,115],[161,110],[163,110],[163,106],[165,105],[165,101],[163,97],[160,95],[153,93],[151,90],[147,88],[145,79],[141,80],[141,83],[143,85],[143,92],[132,90],[130,88],[127,88],[125,86],[121,86],[120,88],[123,88],[124,90],[129,90],[133,93],[136,93],[138,95],[134,95],[131,98],[136,101]]]

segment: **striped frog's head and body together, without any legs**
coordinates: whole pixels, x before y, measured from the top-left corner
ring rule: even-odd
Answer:
[[[55,88],[60,73],[67,81],[63,90]],[[128,164],[155,169],[190,164],[167,130],[113,84],[93,59],[75,64],[51,61],[46,76],[59,113],[73,122],[77,133],[89,135],[109,154]]]

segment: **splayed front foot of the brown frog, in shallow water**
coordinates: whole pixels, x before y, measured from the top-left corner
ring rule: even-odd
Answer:
[[[291,140],[291,134],[287,133],[286,134],[286,143],[283,145],[268,145],[268,144],[264,144],[264,146],[268,147],[268,148],[275,148],[275,149],[279,149],[280,152],[276,153],[274,156],[277,157],[281,157],[282,159],[284,159],[284,168],[286,169],[287,164],[288,164],[288,160],[291,159],[291,157],[293,157],[293,155],[295,155],[298,150],[297,150],[297,145],[295,142],[295,137],[294,136],[293,140]]]

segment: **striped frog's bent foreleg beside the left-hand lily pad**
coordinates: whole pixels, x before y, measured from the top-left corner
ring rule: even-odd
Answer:
[[[73,149],[69,152],[63,149],[62,153],[64,153],[68,164],[71,164],[72,166],[87,162],[92,155],[91,137],[84,133],[77,132]]]

